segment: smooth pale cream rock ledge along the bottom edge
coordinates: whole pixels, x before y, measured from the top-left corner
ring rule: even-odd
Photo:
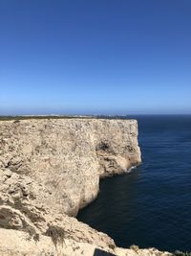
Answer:
[[[103,254],[100,254],[102,252]],[[105,252],[105,253],[104,253]],[[108,254],[106,254],[108,252]],[[122,249],[105,248],[102,250],[95,244],[79,243],[72,239],[66,239],[62,244],[53,245],[51,238],[41,236],[39,242],[35,242],[22,231],[1,229],[0,232],[0,256],[168,256],[155,248],[150,249]]]

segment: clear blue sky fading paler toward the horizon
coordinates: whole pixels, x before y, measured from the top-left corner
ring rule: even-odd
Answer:
[[[0,114],[191,113],[190,0],[0,0]]]

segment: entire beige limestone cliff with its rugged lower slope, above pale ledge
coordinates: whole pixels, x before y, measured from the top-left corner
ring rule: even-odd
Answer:
[[[0,121],[0,227],[35,237],[51,223],[75,242],[115,247],[72,216],[96,198],[100,177],[139,163],[136,120]]]

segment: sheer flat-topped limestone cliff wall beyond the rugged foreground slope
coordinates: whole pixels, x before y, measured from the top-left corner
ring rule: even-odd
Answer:
[[[0,122],[0,168],[43,186],[41,199],[61,214],[75,216],[96,198],[99,176],[139,162],[135,120]]]

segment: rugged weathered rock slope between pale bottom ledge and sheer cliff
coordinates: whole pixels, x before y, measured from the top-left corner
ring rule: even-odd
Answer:
[[[31,177],[0,170],[0,227],[23,230],[33,237],[45,234],[52,223],[64,228],[66,237],[75,241],[102,247],[115,245],[107,235],[48,207],[48,197],[46,188]]]

